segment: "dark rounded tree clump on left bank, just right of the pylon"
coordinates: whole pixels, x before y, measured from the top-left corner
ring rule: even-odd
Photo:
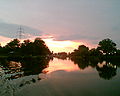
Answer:
[[[34,42],[31,42],[30,40],[24,40],[21,46],[21,53],[23,55],[36,56],[48,55],[51,52],[41,38],[36,38]]]

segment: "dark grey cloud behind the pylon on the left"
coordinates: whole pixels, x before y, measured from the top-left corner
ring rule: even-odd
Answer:
[[[0,35],[9,38],[18,38],[20,26],[23,30],[23,38],[27,38],[29,36],[40,36],[42,34],[41,31],[28,26],[2,22],[0,23]]]

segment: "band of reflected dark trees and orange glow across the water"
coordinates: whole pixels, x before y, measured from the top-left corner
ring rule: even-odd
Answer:
[[[38,75],[40,73],[51,73],[58,70],[67,72],[85,70],[89,67],[96,69],[98,75],[106,80],[112,79],[116,76],[117,67],[120,66],[115,61],[103,61],[93,57],[92,59],[71,58],[70,60],[61,60],[54,58],[32,58],[26,57],[24,59],[1,59],[0,73],[5,73],[8,80],[17,79],[24,76]],[[41,78],[38,76],[38,80]],[[31,78],[31,81],[36,81]],[[26,83],[25,83],[26,84]]]

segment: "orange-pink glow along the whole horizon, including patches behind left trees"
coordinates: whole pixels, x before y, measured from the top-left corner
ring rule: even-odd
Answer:
[[[37,38],[38,36],[32,36],[30,39],[31,41],[34,41],[35,38]],[[46,45],[48,46],[48,48],[50,49],[50,51],[53,51],[54,53],[57,52],[72,52],[74,49],[77,49],[79,45],[86,45],[87,47],[93,47],[94,45],[92,44],[87,44],[84,40],[78,40],[78,41],[71,41],[71,40],[64,40],[64,41],[58,41],[55,40],[55,38],[51,35],[43,35],[43,36],[39,36],[40,38],[42,38],[42,40],[45,41]],[[38,37],[38,38],[39,38]],[[11,38],[7,38],[7,37],[3,37],[0,36],[0,41],[1,41],[1,45],[4,46],[6,45],[8,42],[10,42],[12,39]],[[21,42],[24,41],[24,39],[20,40]],[[94,47],[95,48],[95,47]]]

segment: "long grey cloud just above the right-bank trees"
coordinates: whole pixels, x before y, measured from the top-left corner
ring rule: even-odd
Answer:
[[[67,35],[60,35],[58,36],[58,40],[83,40],[86,41],[88,43],[91,44],[98,44],[99,41],[106,39],[106,38],[110,38],[111,40],[113,40],[113,42],[115,42],[117,44],[117,48],[120,48],[120,32],[117,31],[113,31],[113,32],[89,32],[88,35],[84,34],[84,33],[79,33],[79,34],[67,34]]]

